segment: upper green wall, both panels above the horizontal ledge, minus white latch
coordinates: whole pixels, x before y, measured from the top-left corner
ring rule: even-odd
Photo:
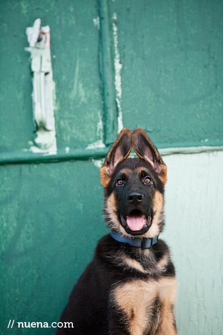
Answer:
[[[58,153],[117,133],[112,24],[125,127],[158,147],[223,145],[223,4],[187,1],[0,1],[0,159],[29,152],[35,130],[25,30],[51,28]],[[114,13],[116,19],[114,19]],[[101,16],[101,29],[96,20]],[[112,19],[113,17],[113,19]],[[104,105],[103,105],[104,102]],[[103,134],[104,126],[104,134]]]

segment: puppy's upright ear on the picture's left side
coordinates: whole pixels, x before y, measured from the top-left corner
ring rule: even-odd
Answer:
[[[105,159],[104,164],[100,169],[101,183],[103,187],[107,187],[111,175],[114,172],[118,163],[128,157],[132,148],[132,132],[128,128],[123,128],[118,134],[114,144]]]

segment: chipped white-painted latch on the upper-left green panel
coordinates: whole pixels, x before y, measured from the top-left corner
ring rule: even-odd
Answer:
[[[51,64],[50,27],[41,27],[41,19],[34,21],[33,27],[26,28],[31,53],[33,72],[33,117],[36,124],[36,147],[41,151],[56,153],[56,131],[54,117],[55,83]],[[51,148],[51,150],[48,150]]]

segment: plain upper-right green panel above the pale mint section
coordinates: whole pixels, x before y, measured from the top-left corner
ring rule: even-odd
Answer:
[[[111,1],[123,123],[158,147],[223,144],[223,2]]]

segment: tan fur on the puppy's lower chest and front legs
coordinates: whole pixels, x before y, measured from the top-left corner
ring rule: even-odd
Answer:
[[[172,305],[175,297],[175,278],[162,278],[158,281],[134,279],[113,292],[113,299],[126,314],[126,324],[131,335],[143,335],[150,330],[150,310],[158,296],[161,313],[155,335],[176,335],[173,326]]]

